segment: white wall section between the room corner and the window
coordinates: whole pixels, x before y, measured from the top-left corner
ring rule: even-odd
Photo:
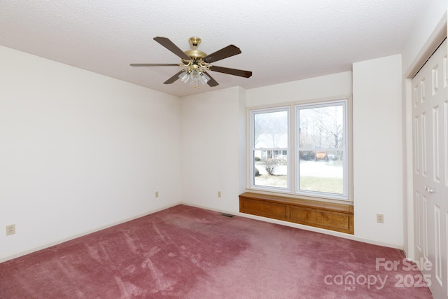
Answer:
[[[244,90],[206,92],[181,103],[182,201],[237,213],[245,188]]]

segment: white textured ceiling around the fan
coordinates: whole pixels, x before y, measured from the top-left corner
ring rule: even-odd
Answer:
[[[172,95],[232,86],[245,89],[350,71],[353,62],[398,54],[427,0],[1,0],[0,45]],[[215,62],[253,71],[241,78],[211,71],[219,85],[193,89],[176,81],[179,63],[154,36],[182,50],[202,39],[213,53],[230,44],[241,54]]]

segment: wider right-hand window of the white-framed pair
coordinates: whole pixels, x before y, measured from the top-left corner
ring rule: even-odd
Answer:
[[[346,198],[346,102],[295,106],[297,193]]]

